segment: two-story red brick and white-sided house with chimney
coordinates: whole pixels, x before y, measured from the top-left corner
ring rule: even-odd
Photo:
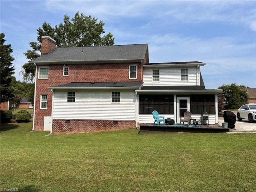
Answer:
[[[218,123],[217,93],[206,89],[202,62],[150,63],[148,44],[56,47],[42,37],[36,65],[33,130],[50,133],[136,128],[152,111],[179,122],[190,110]]]

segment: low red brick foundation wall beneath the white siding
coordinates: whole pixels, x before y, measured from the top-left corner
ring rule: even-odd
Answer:
[[[69,121],[70,122],[66,122],[65,119],[53,119],[52,134],[124,130],[136,127],[135,121],[128,120],[113,121],[71,119]]]

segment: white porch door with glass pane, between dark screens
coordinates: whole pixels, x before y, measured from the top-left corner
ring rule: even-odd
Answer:
[[[186,111],[190,111],[190,97],[177,97],[177,123]]]

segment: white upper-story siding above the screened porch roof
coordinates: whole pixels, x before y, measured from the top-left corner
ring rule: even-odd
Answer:
[[[188,68],[188,80],[180,81],[180,68],[160,68],[159,82],[152,82],[152,68],[144,68],[144,86],[196,86],[200,74],[196,67]]]

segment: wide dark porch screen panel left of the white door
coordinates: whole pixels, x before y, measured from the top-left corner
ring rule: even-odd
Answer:
[[[139,95],[139,113],[150,114],[154,110],[160,114],[174,114],[174,96]]]

